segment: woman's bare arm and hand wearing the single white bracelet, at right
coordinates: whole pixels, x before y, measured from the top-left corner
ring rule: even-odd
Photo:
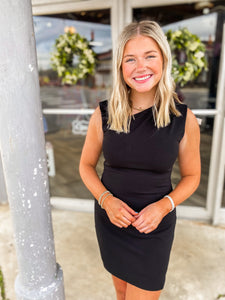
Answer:
[[[197,189],[201,176],[200,161],[200,130],[196,117],[190,109],[187,111],[185,133],[179,145],[178,154],[181,180],[169,194],[175,206],[182,203]],[[145,207],[133,223],[140,232],[149,233],[156,229],[170,210],[171,203],[168,198]]]

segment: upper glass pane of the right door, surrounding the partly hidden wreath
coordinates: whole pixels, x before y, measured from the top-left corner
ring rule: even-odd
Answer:
[[[180,99],[191,109],[215,108],[220,50],[225,14],[217,7],[222,3],[215,1],[212,13],[196,9],[196,4],[170,5],[134,9],[134,20],[151,19],[159,22],[164,30],[187,28],[205,44],[205,57],[208,70],[184,87],[177,86]]]

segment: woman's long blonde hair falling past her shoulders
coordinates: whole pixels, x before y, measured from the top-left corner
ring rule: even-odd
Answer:
[[[163,72],[158,83],[153,114],[155,125],[165,127],[170,123],[170,113],[180,116],[176,109],[175,99],[180,103],[175,92],[175,84],[171,76],[172,56],[170,46],[161,27],[154,21],[141,21],[127,25],[119,36],[114,56],[113,91],[108,104],[109,129],[128,133],[131,122],[131,101],[129,99],[129,87],[123,79],[122,59],[126,43],[137,35],[150,37],[158,44],[163,57]]]

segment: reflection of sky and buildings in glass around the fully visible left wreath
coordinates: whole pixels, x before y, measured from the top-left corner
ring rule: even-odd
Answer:
[[[100,12],[95,12],[94,21],[97,22],[101,17]],[[111,88],[111,27],[109,24],[74,21],[65,17],[34,17],[42,106],[95,108],[100,100],[108,98]],[[61,85],[61,79],[52,70],[50,60],[55,39],[64,33],[66,27],[71,26],[89,40],[98,60],[95,75],[79,80],[74,86]]]

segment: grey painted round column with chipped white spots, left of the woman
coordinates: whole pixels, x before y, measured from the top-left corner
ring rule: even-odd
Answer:
[[[0,45],[0,149],[19,268],[16,296],[63,300],[30,0],[0,1]]]

